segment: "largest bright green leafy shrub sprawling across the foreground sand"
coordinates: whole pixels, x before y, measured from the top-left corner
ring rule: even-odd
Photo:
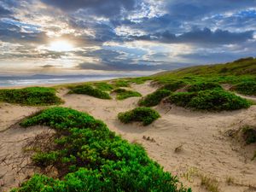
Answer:
[[[191,191],[150,160],[143,147],[116,136],[86,113],[49,108],[20,125],[57,131],[55,149],[35,154],[33,160],[42,168],[55,167],[59,177],[36,174],[13,191]]]

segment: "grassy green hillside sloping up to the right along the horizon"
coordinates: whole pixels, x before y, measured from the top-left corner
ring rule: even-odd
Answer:
[[[154,80],[160,84],[168,84],[177,80],[186,84],[206,81],[237,84],[244,81],[256,81],[256,58],[242,58],[225,64],[185,67],[174,71],[156,73],[149,77],[126,80],[131,83]]]

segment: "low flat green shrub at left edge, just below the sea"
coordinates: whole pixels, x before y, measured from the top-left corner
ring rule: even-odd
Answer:
[[[18,90],[0,90],[0,102],[22,105],[53,105],[61,104],[55,95],[55,89],[46,87],[28,87]]]

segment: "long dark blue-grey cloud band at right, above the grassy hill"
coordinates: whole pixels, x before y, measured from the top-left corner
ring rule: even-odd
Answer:
[[[191,32],[184,32],[178,36],[166,31],[145,36],[131,36],[130,38],[131,40],[159,41],[166,44],[236,44],[253,39],[253,31],[229,32],[217,29],[212,32],[210,29],[204,28],[195,29]]]

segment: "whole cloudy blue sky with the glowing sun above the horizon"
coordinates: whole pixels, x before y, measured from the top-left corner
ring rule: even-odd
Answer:
[[[0,75],[143,75],[247,56],[256,0],[0,0]]]

